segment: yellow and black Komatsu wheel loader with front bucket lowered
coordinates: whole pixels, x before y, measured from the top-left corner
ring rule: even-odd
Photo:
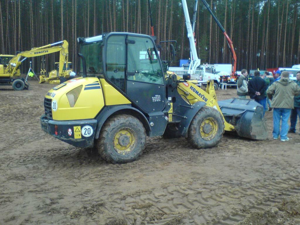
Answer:
[[[217,101],[213,81],[202,90],[163,72],[152,37],[113,32],[78,38],[82,77],[45,96],[41,127],[76,147],[95,147],[105,160],[127,163],[146,136],[186,137],[197,149],[216,146],[224,131],[264,140],[263,108],[253,100]]]

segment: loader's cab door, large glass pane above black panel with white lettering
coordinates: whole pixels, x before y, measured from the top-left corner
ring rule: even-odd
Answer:
[[[154,42],[147,36],[128,35],[126,94],[147,113],[165,106],[165,79]]]

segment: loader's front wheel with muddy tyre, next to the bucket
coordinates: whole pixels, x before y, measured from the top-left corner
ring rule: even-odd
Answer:
[[[220,142],[224,128],[221,113],[212,107],[203,107],[190,123],[187,140],[197,149],[211,148]]]

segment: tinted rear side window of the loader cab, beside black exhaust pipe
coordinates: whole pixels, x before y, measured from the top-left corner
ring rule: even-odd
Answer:
[[[80,46],[80,53],[85,57],[86,74],[88,76],[103,76],[102,41],[95,41]],[[82,60],[80,60],[82,74]]]

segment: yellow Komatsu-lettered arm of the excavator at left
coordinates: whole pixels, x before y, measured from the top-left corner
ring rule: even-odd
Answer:
[[[10,76],[13,76],[16,73],[18,67],[22,64],[22,61],[24,61],[26,58],[47,55],[54,52],[60,52],[58,73],[61,74],[64,63],[68,61],[68,45],[69,45],[68,42],[64,40],[53,44],[48,44],[45,46],[33,48],[28,51],[19,52],[9,62]],[[21,57],[25,57],[25,58],[21,60]]]

